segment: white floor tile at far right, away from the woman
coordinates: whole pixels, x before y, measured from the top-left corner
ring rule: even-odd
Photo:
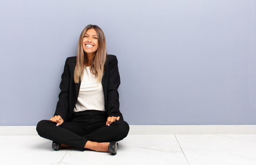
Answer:
[[[176,135],[190,165],[256,165],[256,135]]]

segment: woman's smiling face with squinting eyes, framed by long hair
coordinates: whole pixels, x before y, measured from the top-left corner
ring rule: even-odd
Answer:
[[[95,54],[98,49],[98,36],[94,29],[88,29],[83,36],[83,51]]]

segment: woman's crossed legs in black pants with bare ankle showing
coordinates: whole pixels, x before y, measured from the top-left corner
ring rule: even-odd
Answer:
[[[106,121],[91,122],[90,125],[72,121],[56,126],[52,121],[42,120],[37,124],[36,130],[43,138],[82,151],[88,148],[107,152],[110,141],[120,141],[127,136],[129,125],[126,121],[119,120],[110,126],[106,126]]]

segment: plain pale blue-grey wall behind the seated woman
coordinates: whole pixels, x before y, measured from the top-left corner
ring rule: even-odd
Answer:
[[[87,24],[117,55],[129,124],[256,124],[255,0],[0,0],[0,24],[0,125],[52,117]]]

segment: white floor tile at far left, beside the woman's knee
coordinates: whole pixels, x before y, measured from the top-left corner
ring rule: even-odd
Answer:
[[[58,165],[67,150],[52,150],[39,136],[0,136],[1,165]]]

